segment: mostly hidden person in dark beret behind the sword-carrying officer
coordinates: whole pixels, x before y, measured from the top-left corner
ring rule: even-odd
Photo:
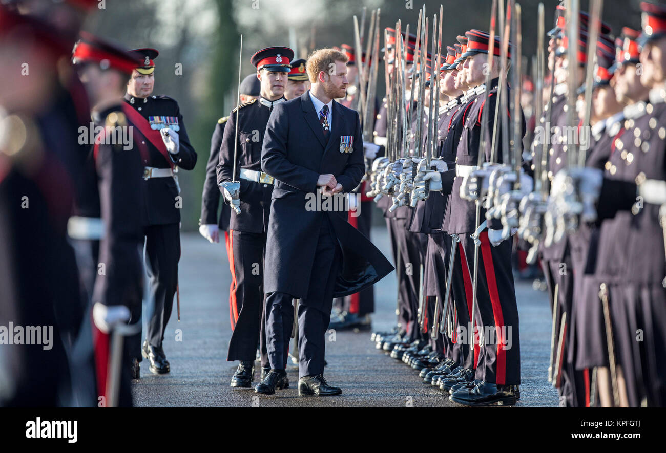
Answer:
[[[259,79],[256,74],[246,76],[240,82],[240,103],[245,104],[252,99],[259,97]],[[229,318],[231,329],[236,326],[238,319],[238,304],[236,304],[236,280],[234,275],[234,255],[231,252],[229,220],[231,208],[228,204],[222,203],[220,216],[217,216],[217,210],[220,206],[220,189],[217,186],[217,164],[220,161],[220,146],[222,145],[222,136],[224,135],[224,126],[229,119],[228,116],[222,116],[215,124],[215,130],[210,138],[210,156],[206,164],[206,180],[204,181],[204,190],[201,196],[201,218],[199,219],[199,233],[210,243],[220,241],[220,231],[224,231],[224,244],[226,245],[226,256],[229,261],[229,271],[231,272],[231,285],[229,287]]]

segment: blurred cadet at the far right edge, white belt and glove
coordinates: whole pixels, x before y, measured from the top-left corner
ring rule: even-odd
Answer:
[[[637,98],[623,110],[623,127],[613,137],[603,173],[583,168],[567,175],[578,186],[585,182],[578,196],[597,199],[595,211],[601,221],[595,278],[604,325],[593,343],[605,355],[603,363],[595,364],[601,406],[663,406],[666,401],[666,345],[659,333],[666,322],[666,259],[655,253],[664,247],[660,221],[666,202],[666,128],[662,126],[666,122],[666,8],[643,2],[641,9],[643,33],[637,41],[642,47],[642,71],[627,65],[629,71],[620,77],[638,75],[641,84],[650,88],[648,99]],[[551,196],[561,193],[553,190]],[[642,341],[637,341],[637,332],[643,333]]]

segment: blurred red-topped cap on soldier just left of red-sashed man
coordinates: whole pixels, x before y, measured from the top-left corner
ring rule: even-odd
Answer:
[[[115,69],[131,74],[137,66],[143,65],[143,60],[91,33],[82,31],[81,39],[77,41],[72,51],[72,63],[75,65],[98,63],[101,69]]]

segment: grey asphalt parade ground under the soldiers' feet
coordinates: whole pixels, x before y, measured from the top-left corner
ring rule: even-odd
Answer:
[[[339,331],[328,335],[324,376],[342,388],[341,396],[298,396],[298,367],[288,365],[290,386],[271,396],[229,386],[238,363],[226,361],[231,337],[229,273],[224,236],[212,244],[198,233],[180,237],[180,323],[176,301],[166,327],[164,349],[171,372],[153,375],[141,363],[133,382],[135,406],[141,407],[461,407],[448,394],[424,384],[418,372],[375,349],[370,332]],[[390,256],[385,227],[372,229],[372,241]],[[557,391],[547,382],[551,317],[548,297],[531,281],[516,281],[520,316],[521,399],[516,407],[557,406]],[[373,329],[395,323],[395,273],[375,285]],[[145,331],[144,331],[145,332]],[[293,345],[293,342],[292,342]],[[257,363],[253,386],[258,383]]]

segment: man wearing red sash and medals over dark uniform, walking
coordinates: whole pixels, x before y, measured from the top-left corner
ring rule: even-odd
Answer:
[[[142,209],[145,227],[145,264],[149,277],[150,303],[153,308],[141,355],[150,361],[150,371],[168,373],[163,341],[171,315],[173,297],[178,287],[180,259],[180,186],[178,168],[192,170],[196,152],[187,136],[178,102],[165,95],[155,95],[155,49],[135,49],[133,55],[143,61],[133,71],[127,84],[125,102],[129,120],[139,129],[149,149],[144,162]],[[151,95],[152,94],[152,95]],[[143,143],[142,143],[143,144]],[[153,305],[154,303],[154,305]],[[150,309],[149,309],[150,313]]]

